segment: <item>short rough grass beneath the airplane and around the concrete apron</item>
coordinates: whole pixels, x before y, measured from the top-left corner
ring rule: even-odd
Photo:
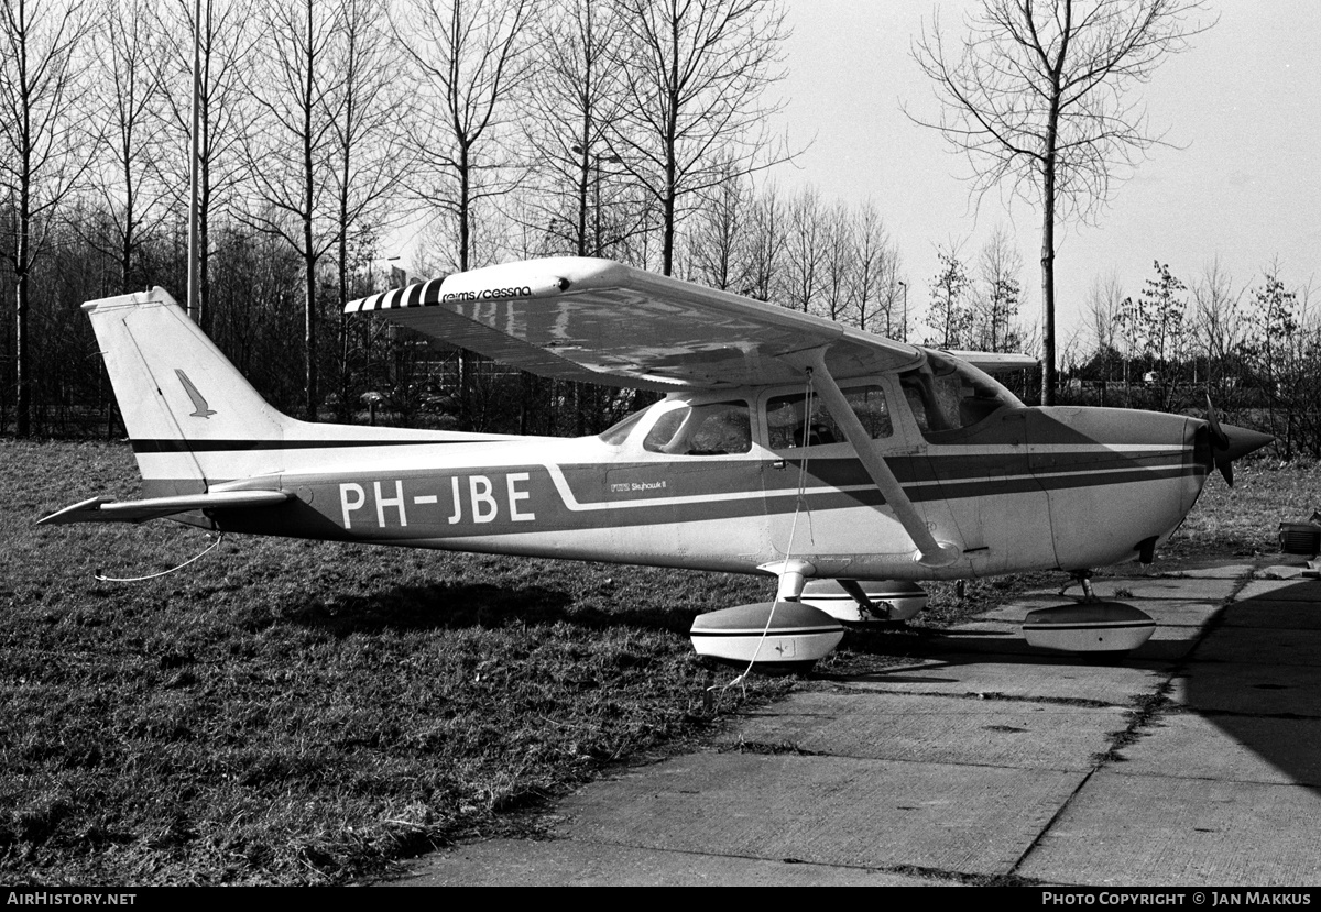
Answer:
[[[1316,469],[1213,480],[1168,549],[1273,549]],[[34,528],[131,496],[127,447],[0,442],[0,882],[317,884],[527,833],[612,764],[709,736],[793,678],[729,681],[692,618],[766,578],[226,538],[169,523]],[[851,632],[823,670],[902,661],[923,630],[1059,575],[933,587],[922,624]]]

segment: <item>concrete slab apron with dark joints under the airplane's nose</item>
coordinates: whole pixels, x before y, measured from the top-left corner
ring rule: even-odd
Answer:
[[[1104,660],[1008,636],[1029,597],[400,883],[1321,884],[1321,583],[1250,571],[1099,582],[1160,624]]]

